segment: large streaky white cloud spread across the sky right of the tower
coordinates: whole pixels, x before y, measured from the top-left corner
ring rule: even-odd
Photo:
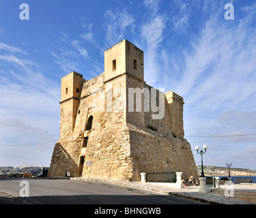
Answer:
[[[165,77],[162,82],[168,87],[171,84],[171,89],[184,97],[185,136],[255,133],[255,10],[236,22],[229,22],[224,19],[223,7],[208,14],[199,34],[191,35],[190,48],[181,50],[180,57],[170,53],[165,56],[169,59],[165,61],[167,67],[171,66],[170,61],[176,61],[177,67],[172,65],[169,78]],[[246,7],[246,10],[251,8]],[[238,161],[236,157],[244,153],[254,137],[188,140],[193,146],[209,142],[212,154],[208,161],[211,163],[223,150],[223,157],[218,155],[221,165],[227,159]],[[230,155],[225,157],[225,153]],[[240,160],[246,157],[252,158],[246,153],[244,157],[240,155]],[[195,159],[199,157],[195,155]]]

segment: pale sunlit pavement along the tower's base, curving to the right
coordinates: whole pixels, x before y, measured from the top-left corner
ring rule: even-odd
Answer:
[[[106,178],[81,178],[72,177],[72,180],[83,180],[83,181],[98,181],[100,183],[111,183],[115,185],[122,185],[126,187],[134,187],[137,189],[145,189],[148,191],[156,191],[158,193],[164,193],[171,196],[176,196],[179,198],[186,198],[190,200],[196,200],[198,202],[203,202],[206,204],[256,204],[255,202],[247,200],[239,200],[236,198],[228,198],[221,196],[219,191],[225,191],[227,185],[220,185],[219,189],[212,188],[210,193],[199,192],[199,186],[189,186],[184,189],[177,189],[174,187],[169,187],[168,183],[140,183],[140,182],[129,182],[129,181],[115,181]],[[230,188],[230,187],[229,187]],[[256,184],[234,184],[234,193],[238,191],[243,191],[245,193],[253,193],[256,195]],[[230,193],[230,191],[228,192]]]

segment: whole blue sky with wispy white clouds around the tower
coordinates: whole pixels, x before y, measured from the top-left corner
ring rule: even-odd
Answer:
[[[0,0],[0,166],[50,165],[60,79],[102,74],[104,50],[126,38],[144,51],[147,84],[184,97],[196,164],[207,144],[205,165],[256,169],[256,136],[237,136],[256,134],[255,17],[249,0]]]

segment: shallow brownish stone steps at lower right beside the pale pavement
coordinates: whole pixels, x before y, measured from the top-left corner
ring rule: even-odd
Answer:
[[[216,193],[220,196],[225,196],[225,189],[212,189],[212,193]],[[234,190],[234,197],[238,200],[246,200],[248,202],[253,202],[256,204],[256,191],[248,191],[248,190]]]

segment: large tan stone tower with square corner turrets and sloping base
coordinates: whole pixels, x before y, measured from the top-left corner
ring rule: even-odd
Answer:
[[[48,176],[198,176],[184,139],[183,98],[146,84],[143,65],[143,51],[123,40],[104,52],[103,74],[87,81],[72,72],[61,79],[60,139]]]

